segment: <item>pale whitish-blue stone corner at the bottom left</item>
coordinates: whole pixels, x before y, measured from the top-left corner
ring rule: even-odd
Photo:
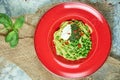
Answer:
[[[12,62],[0,57],[0,80],[32,80]]]

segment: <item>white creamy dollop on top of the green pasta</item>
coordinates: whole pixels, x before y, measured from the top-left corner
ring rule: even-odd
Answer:
[[[64,29],[62,30],[61,38],[63,40],[68,40],[70,35],[71,35],[71,25],[69,24],[65,26]]]

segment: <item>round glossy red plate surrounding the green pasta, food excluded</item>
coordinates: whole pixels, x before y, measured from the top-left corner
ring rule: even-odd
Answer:
[[[63,21],[77,19],[88,24],[93,32],[92,50],[87,58],[68,61],[56,55],[53,34]],[[66,78],[84,77],[98,70],[111,48],[110,28],[105,18],[89,5],[77,2],[59,4],[41,18],[35,37],[35,49],[39,60],[52,73]]]

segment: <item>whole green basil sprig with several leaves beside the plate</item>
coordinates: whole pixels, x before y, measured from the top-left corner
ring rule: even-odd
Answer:
[[[3,24],[7,31],[5,41],[8,42],[12,48],[18,44],[18,31],[23,26],[24,21],[24,16],[20,16],[16,19],[15,23],[13,23],[8,15],[0,13],[0,24]]]

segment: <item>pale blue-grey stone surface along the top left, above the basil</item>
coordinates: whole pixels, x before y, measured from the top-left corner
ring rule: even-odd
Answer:
[[[0,0],[0,12],[10,16],[35,13],[44,5],[70,0]]]

